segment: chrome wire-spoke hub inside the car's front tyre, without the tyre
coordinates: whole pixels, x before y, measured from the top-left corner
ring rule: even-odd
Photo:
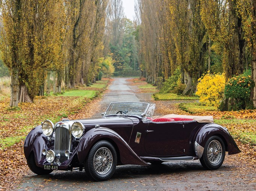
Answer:
[[[109,172],[113,164],[113,156],[111,151],[102,147],[99,148],[93,157],[93,167],[100,175],[105,175]]]

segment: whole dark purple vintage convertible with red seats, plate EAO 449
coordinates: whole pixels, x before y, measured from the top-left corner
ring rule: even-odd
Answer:
[[[154,116],[154,104],[111,103],[102,118],[45,120],[27,135],[24,154],[36,174],[85,169],[109,179],[117,165],[150,165],[199,159],[219,168],[228,154],[240,153],[228,129],[212,116]]]

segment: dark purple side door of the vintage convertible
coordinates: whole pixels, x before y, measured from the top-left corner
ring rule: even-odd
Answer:
[[[184,154],[183,122],[150,122],[144,147],[151,156],[178,156]]]

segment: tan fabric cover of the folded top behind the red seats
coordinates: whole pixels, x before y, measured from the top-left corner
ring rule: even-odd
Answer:
[[[189,118],[196,120],[199,123],[213,123],[213,116],[195,116],[195,115],[176,115],[176,114],[168,114],[162,116],[153,116],[153,119],[158,118]]]

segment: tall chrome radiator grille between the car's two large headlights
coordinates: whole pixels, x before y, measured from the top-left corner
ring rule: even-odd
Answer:
[[[71,136],[68,129],[57,127],[55,129],[54,152],[60,154],[60,163],[63,163],[68,157],[65,156],[65,151],[70,150]]]

